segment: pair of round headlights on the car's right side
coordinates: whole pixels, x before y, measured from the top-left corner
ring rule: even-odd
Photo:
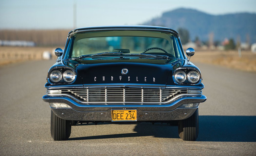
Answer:
[[[188,72],[188,74],[186,74],[184,71],[180,70],[174,74],[174,79],[178,83],[183,83],[186,80],[188,80],[191,83],[196,83],[199,81],[200,75],[197,71],[194,71],[194,70]]]

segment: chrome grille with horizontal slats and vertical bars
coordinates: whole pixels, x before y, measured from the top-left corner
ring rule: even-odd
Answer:
[[[65,88],[62,95],[71,95],[85,103],[161,103],[168,101],[178,94],[187,94],[186,89],[172,88],[131,88],[131,87],[102,87],[102,88]],[[200,93],[200,91],[199,91]]]

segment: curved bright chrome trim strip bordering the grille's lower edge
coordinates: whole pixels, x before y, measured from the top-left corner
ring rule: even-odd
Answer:
[[[179,98],[179,97],[196,97],[196,96],[201,96],[202,94],[178,94],[176,96],[174,96],[173,98],[165,101],[165,102],[84,102],[84,101],[81,101],[80,99],[77,99],[76,97],[70,95],[70,94],[47,94],[48,96],[52,96],[52,97],[60,97],[60,96],[67,96],[67,97],[71,97],[73,98],[74,100],[78,101],[79,103],[83,103],[83,104],[122,104],[122,105],[125,105],[125,104],[158,104],[161,105],[161,104],[168,104],[168,103],[171,103],[173,102],[176,98]],[[142,106],[140,105],[140,106]],[[90,105],[92,106],[92,105]],[[97,105],[99,106],[99,105]],[[112,105],[108,105],[108,107]],[[135,105],[132,105],[132,106],[135,106]],[[150,105],[151,106],[151,105]]]

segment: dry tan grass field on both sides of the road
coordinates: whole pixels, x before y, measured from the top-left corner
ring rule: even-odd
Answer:
[[[56,47],[0,47],[0,65],[27,60],[40,60],[44,51]],[[63,47],[62,47],[63,48]],[[53,55],[56,59],[56,56]],[[202,62],[226,66],[243,71],[256,72],[256,53],[242,51],[239,58],[237,51],[197,51],[191,57],[191,62]]]

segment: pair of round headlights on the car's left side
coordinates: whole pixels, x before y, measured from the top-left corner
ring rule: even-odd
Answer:
[[[75,79],[75,73],[72,70],[66,70],[63,74],[59,70],[51,71],[49,78],[52,82],[59,82],[63,79],[65,82],[72,82]]]

